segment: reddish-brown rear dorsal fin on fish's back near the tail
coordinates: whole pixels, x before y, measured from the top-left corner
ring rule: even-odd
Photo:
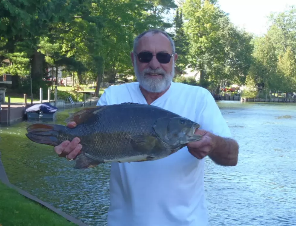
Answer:
[[[88,121],[92,115],[98,113],[98,111],[101,111],[101,109],[104,108],[103,106],[96,106],[96,107],[90,107],[90,108],[83,108],[80,111],[77,111],[75,113],[68,113],[69,117],[66,118],[66,122],[75,122],[76,125],[83,124],[86,121]]]

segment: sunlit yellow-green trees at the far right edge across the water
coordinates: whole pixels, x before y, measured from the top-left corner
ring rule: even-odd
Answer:
[[[264,93],[296,91],[296,9],[270,15],[272,23],[264,37],[254,39],[249,75]]]

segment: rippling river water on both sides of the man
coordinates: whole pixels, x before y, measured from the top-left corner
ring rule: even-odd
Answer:
[[[296,104],[218,105],[240,153],[235,167],[206,159],[210,225],[296,225]],[[64,124],[67,116],[60,112],[55,123]],[[110,165],[74,170],[73,162],[57,158],[52,147],[29,141],[27,125],[0,128],[11,183],[89,225],[106,225]]]

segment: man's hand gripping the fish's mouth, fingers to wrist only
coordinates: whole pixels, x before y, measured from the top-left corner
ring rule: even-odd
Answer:
[[[214,149],[215,135],[206,130],[196,130],[195,134],[202,136],[202,139],[188,143],[187,147],[191,155],[195,156],[198,159],[203,159]]]

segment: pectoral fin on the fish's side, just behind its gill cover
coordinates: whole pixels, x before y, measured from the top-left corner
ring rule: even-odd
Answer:
[[[139,152],[148,153],[155,148],[156,144],[157,138],[152,136],[137,135],[131,139],[131,145]]]

